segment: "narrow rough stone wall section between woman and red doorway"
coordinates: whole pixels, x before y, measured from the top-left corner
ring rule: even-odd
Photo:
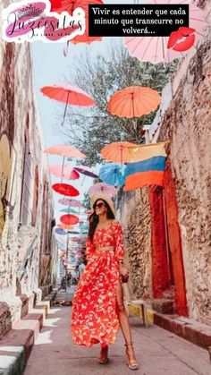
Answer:
[[[130,269],[129,286],[137,298],[152,295],[151,217],[148,190],[123,192],[116,200],[117,217],[124,228],[125,265]]]

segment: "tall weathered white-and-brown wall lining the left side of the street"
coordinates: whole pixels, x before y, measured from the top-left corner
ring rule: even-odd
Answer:
[[[4,6],[7,4],[3,2]],[[22,294],[33,303],[34,293],[41,296],[39,286],[52,285],[55,267],[50,242],[53,219],[51,183],[46,172],[42,131],[33,93],[30,44],[15,45],[0,40],[0,81],[0,303],[4,311],[2,315],[9,316],[4,304],[7,303],[11,320],[15,321],[21,317],[21,299],[25,298]],[[30,144],[30,198],[29,220],[22,224],[26,133]],[[44,185],[47,186],[45,200]],[[45,246],[41,242],[44,209],[47,212],[46,237],[42,238]],[[46,254],[48,277],[40,285],[39,268],[45,263]]]

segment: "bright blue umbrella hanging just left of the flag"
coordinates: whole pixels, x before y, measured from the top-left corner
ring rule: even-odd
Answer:
[[[101,166],[99,170],[99,176],[104,183],[108,183],[113,186],[122,186],[125,181],[126,166],[123,164],[109,163]]]

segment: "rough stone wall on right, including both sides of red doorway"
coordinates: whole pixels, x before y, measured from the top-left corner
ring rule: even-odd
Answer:
[[[207,13],[210,11],[210,1],[198,4]],[[211,32],[207,32],[198,42],[197,50],[192,48],[178,64],[167,88],[172,99],[171,95],[167,98],[167,105],[164,100],[164,108],[160,108],[151,130],[154,133],[153,136],[151,133],[152,141],[170,141],[168,158],[175,188],[175,210],[178,211],[181,233],[178,242],[181,242],[186,288],[186,296],[182,298],[184,303],[187,299],[190,318],[206,324],[211,323],[210,38]],[[168,195],[171,197],[170,192]],[[147,284],[152,295],[151,219],[147,189],[133,192],[130,197],[122,193],[118,214],[127,237],[133,293],[137,297],[144,294],[144,280],[148,275]],[[173,238],[171,242],[174,246]],[[182,274],[178,279],[180,277]]]

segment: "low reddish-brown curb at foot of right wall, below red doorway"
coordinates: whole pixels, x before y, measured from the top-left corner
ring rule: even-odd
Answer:
[[[131,303],[129,311],[133,315],[139,316],[142,319],[141,308]],[[156,324],[164,328],[174,335],[190,341],[192,344],[198,345],[207,349],[211,346],[211,328],[206,324],[199,323],[196,320],[191,320],[178,315],[167,315],[147,309],[148,323]]]

